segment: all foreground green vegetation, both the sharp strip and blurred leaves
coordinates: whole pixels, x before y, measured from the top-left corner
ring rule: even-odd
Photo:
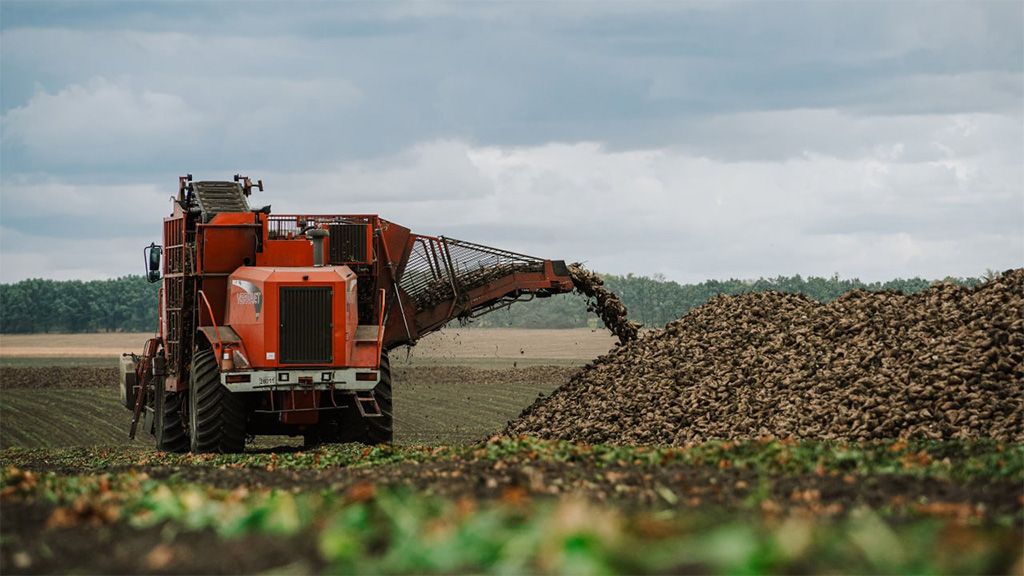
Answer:
[[[834,506],[779,506],[754,497],[726,508],[691,507],[671,491],[656,505],[629,506],[516,486],[497,497],[472,490],[444,496],[375,482],[373,476],[297,490],[259,483],[232,488],[216,476],[204,482],[166,474],[245,467],[287,478],[287,470],[356,466],[385,476],[391,466],[453,460],[503,466],[626,462],[656,469],[681,459],[695,466],[728,461],[766,476],[836,470],[856,478],[1024,479],[1022,447],[988,441],[763,440],[636,448],[496,438],[461,448],[343,445],[223,456],[124,448],[5,450],[0,459],[5,530],[27,518],[45,519],[36,520],[45,522],[39,533],[4,536],[4,560],[25,567],[45,567],[53,560],[45,558],[47,550],[59,549],[62,538],[83,535],[96,539],[96,549],[110,549],[112,558],[123,551],[119,543],[142,545],[132,558],[141,572],[173,570],[187,560],[178,553],[245,553],[254,538],[284,542],[283,549],[291,550],[262,567],[282,573],[959,574],[1010,573],[1021,562],[1019,517],[949,513],[948,506],[914,506],[918,512],[907,516],[854,504],[837,512]],[[18,516],[20,510],[27,511]],[[128,532],[131,538],[123,536]],[[100,541],[104,534],[110,542]],[[175,543],[186,534],[201,535],[204,549]]]

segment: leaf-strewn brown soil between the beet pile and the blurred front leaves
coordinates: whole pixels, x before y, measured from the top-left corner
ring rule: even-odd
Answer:
[[[133,470],[224,489],[328,486],[344,492],[372,482],[380,487],[413,486],[446,497],[500,498],[504,491],[519,487],[537,496],[572,492],[634,508],[671,502],[673,498],[659,486],[677,497],[696,497],[691,506],[726,508],[743,507],[748,497],[769,498],[782,507],[802,506],[810,502],[792,497],[794,492],[814,490],[818,496],[813,503],[841,504],[828,516],[845,515],[861,504],[881,507],[902,502],[910,508],[915,500],[941,500],[984,504],[970,511],[979,518],[1012,517],[1020,509],[1014,500],[1019,490],[1015,482],[1024,474],[1021,450],[1007,450],[994,442],[854,446],[753,441],[680,450],[496,437],[461,447],[367,450],[361,445],[334,445],[273,454],[264,450],[246,455],[179,455],[102,447],[11,450],[5,455],[11,465],[37,472]],[[877,466],[892,471],[876,474]],[[759,478],[762,474],[782,478],[766,482]]]

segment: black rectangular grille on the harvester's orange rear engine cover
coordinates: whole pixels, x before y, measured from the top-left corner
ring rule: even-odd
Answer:
[[[281,288],[281,363],[328,364],[333,328],[330,286]]]

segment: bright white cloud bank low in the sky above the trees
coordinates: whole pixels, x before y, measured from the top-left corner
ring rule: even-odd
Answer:
[[[698,281],[797,273],[937,278],[1019,265],[1020,168],[996,162],[984,173],[957,176],[935,162],[735,163],[594,143],[480,148],[443,140],[372,168],[355,162],[317,173],[253,175],[267,184],[255,201],[271,203],[278,213],[380,213],[421,234],[586,260],[605,272]],[[439,188],[418,196],[417,180]],[[364,184],[393,196],[379,201]],[[91,206],[86,199],[101,189],[81,189],[58,217],[81,214],[110,231],[108,237],[54,239],[45,228],[8,229],[5,215],[4,278],[46,266],[55,277],[135,272],[137,248],[153,239],[169,209],[160,190],[170,188],[124,187],[111,196],[137,222],[148,222],[148,234],[141,223],[122,229],[121,213]],[[40,214],[48,198],[67,189],[27,190],[38,201],[13,205],[22,215]],[[88,254],[70,257],[76,250]]]

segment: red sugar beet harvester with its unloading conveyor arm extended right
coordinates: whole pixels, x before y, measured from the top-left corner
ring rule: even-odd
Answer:
[[[572,289],[563,261],[377,215],[271,214],[249,207],[253,188],[181,177],[164,243],[144,251],[160,328],[122,358],[121,395],[130,436],[141,422],[161,450],[241,452],[256,435],[389,443],[389,349]]]

